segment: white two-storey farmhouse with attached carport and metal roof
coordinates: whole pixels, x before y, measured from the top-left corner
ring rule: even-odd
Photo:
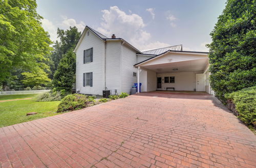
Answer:
[[[183,51],[182,45],[140,51],[124,39],[108,38],[86,26],[75,49],[76,92],[102,95],[131,93],[134,83],[141,92],[156,90],[205,91],[208,52]]]

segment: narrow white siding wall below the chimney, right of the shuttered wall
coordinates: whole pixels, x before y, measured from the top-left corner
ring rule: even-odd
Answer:
[[[111,90],[112,94],[120,94],[121,75],[120,75],[121,42],[106,42],[106,88]],[[99,67],[100,68],[100,67]]]

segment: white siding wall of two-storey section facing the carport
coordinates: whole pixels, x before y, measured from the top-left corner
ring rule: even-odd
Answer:
[[[122,45],[122,58],[121,58],[121,92],[131,94],[131,88],[137,82],[137,77],[133,76],[133,72],[137,73],[134,65],[137,63],[136,51]]]

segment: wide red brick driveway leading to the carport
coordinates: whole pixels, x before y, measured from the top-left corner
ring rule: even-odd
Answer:
[[[141,93],[0,128],[2,167],[253,167],[255,135],[207,94]]]

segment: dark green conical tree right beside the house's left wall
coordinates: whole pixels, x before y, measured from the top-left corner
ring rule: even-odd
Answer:
[[[68,51],[61,59],[53,77],[53,85],[57,90],[65,89],[71,92],[72,85],[75,82],[76,73],[76,55],[72,50]]]

